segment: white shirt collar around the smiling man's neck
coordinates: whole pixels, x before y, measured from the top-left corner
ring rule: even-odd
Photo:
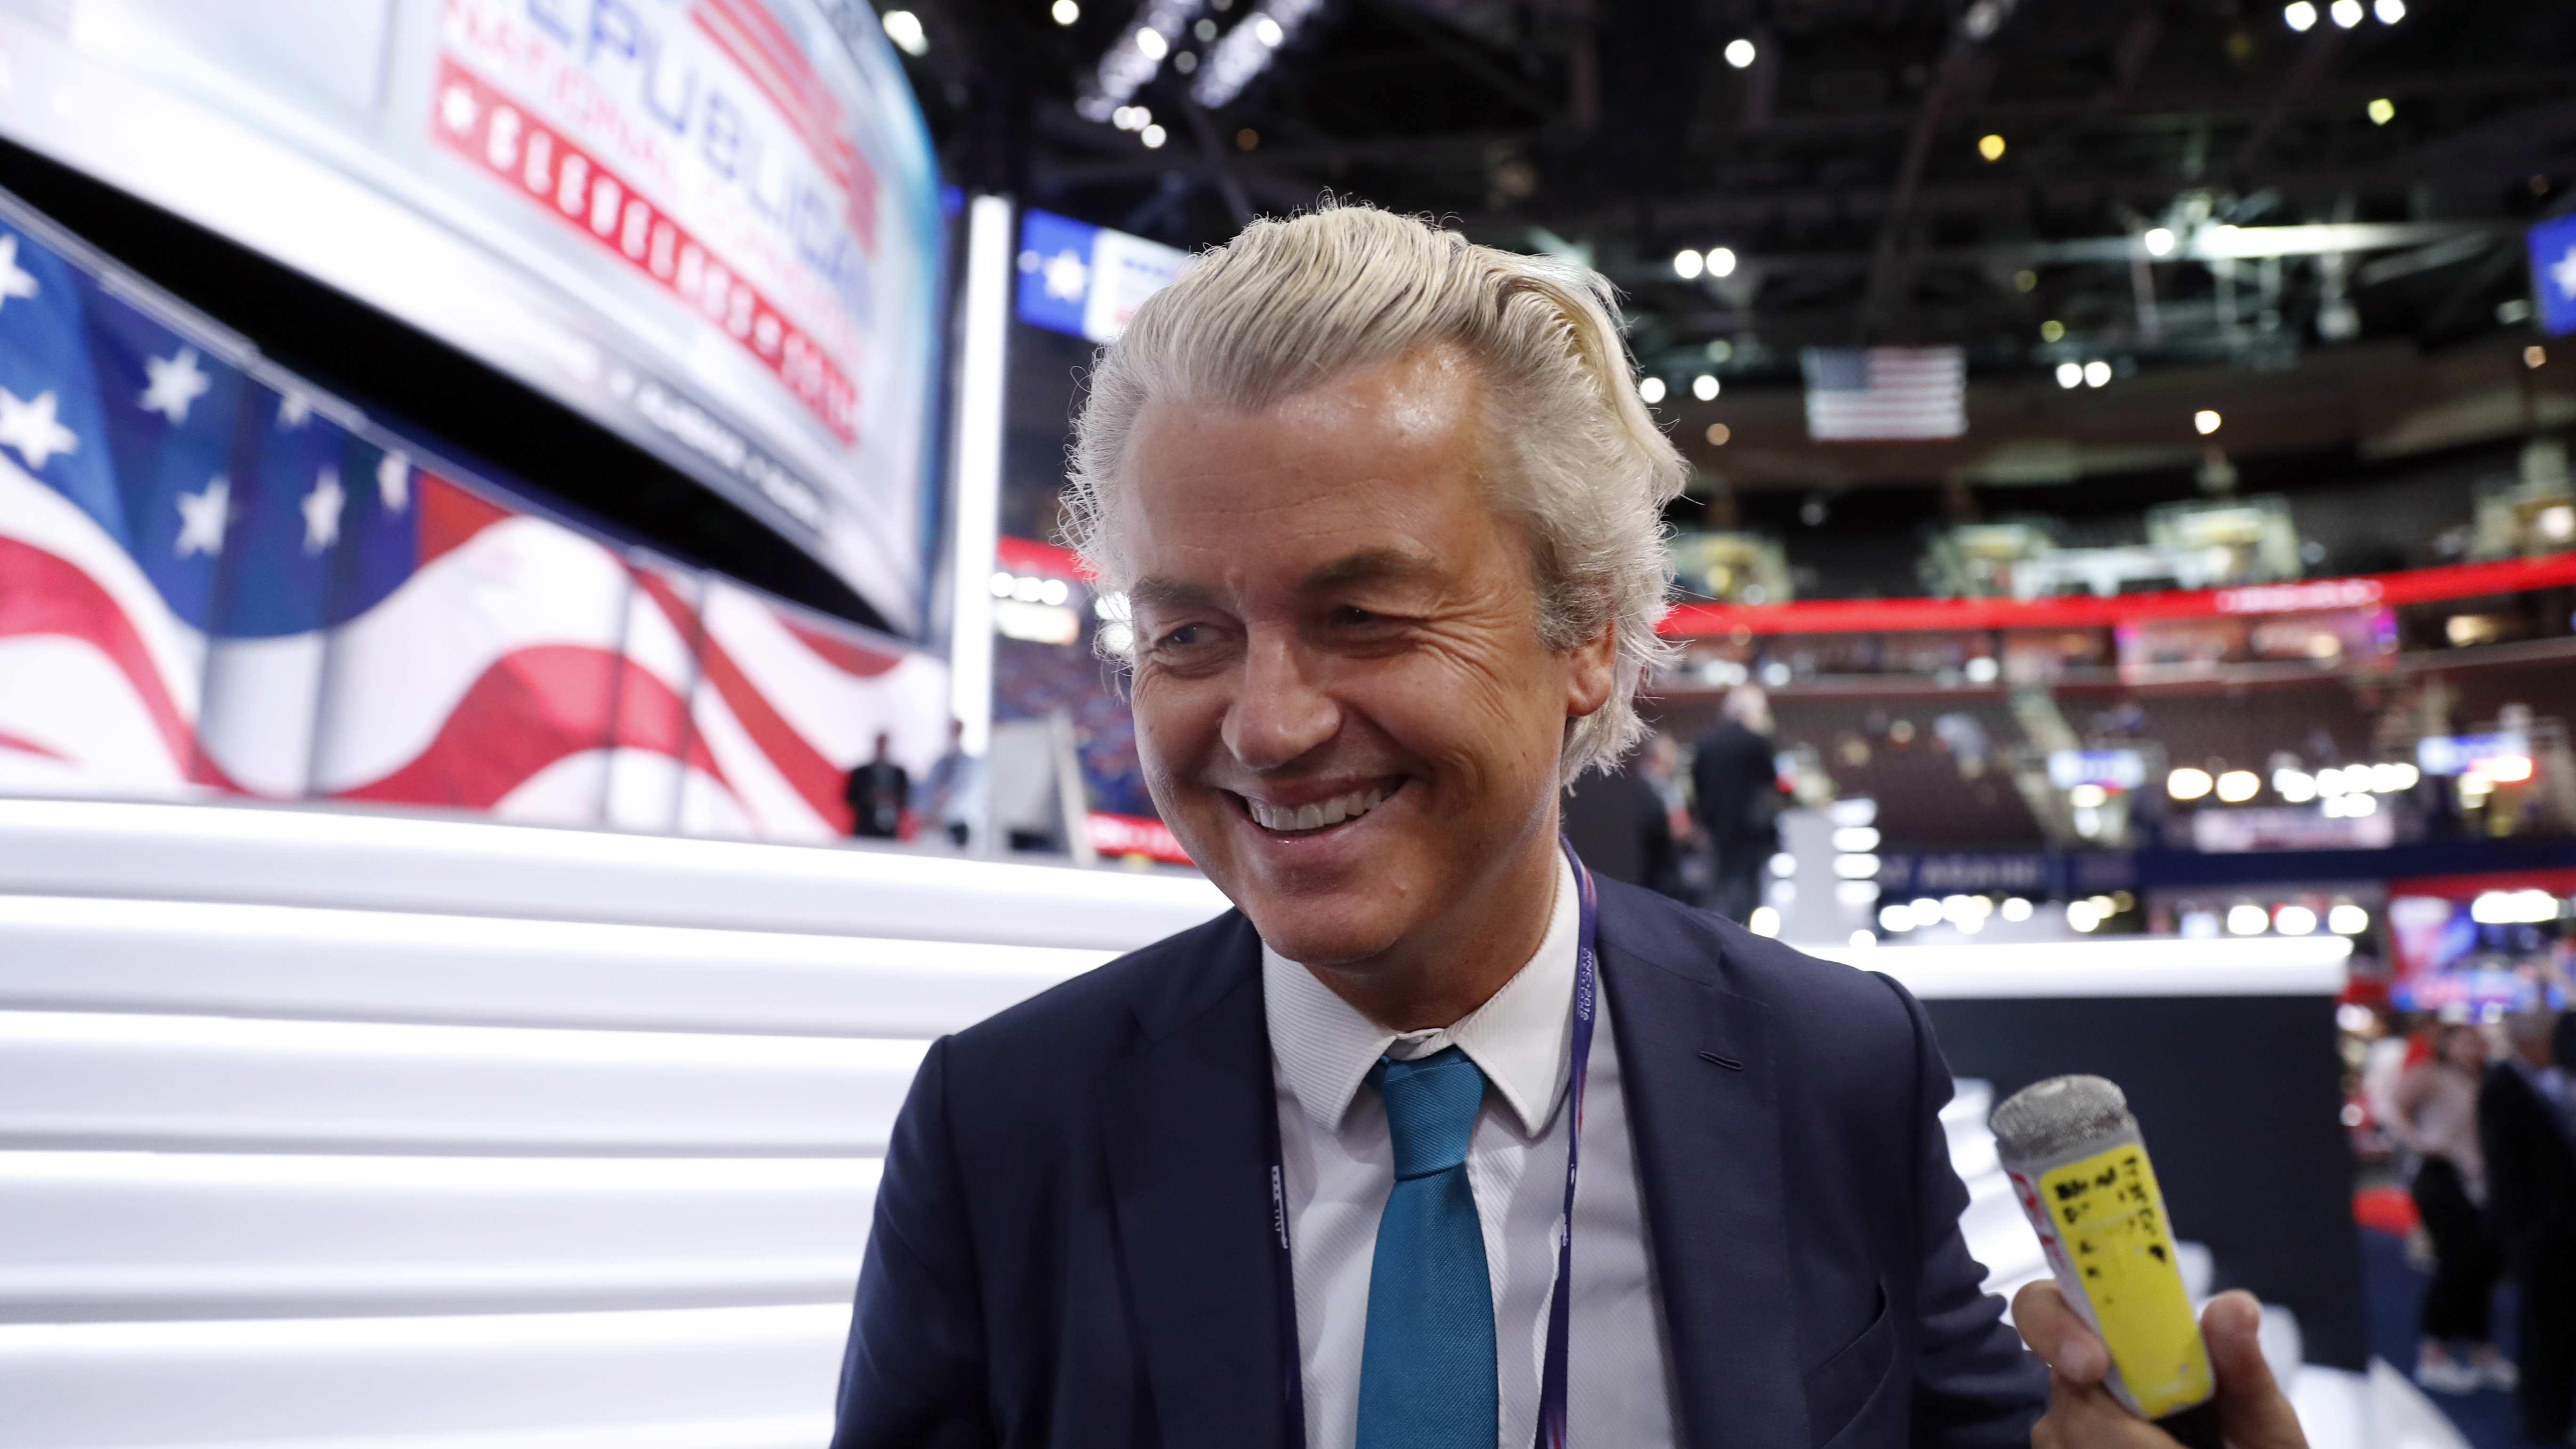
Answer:
[[[1422,1057],[1443,1047],[1466,1052],[1484,1080],[1538,1137],[1556,1114],[1574,1057],[1574,951],[1579,933],[1574,866],[1556,853],[1556,908],[1548,936],[1512,980],[1455,1024],[1437,1031],[1388,1031],[1332,993],[1306,967],[1262,944],[1262,1006],[1270,1057],[1280,1065],[1298,1111],[1321,1132],[1340,1132],[1360,1083],[1391,1047]]]

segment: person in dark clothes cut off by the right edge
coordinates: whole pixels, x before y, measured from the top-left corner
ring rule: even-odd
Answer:
[[[2478,1088],[2486,1196],[2522,1284],[2522,1439],[2566,1444],[2576,1410],[2576,1124],[2566,1073],[2550,1062],[2558,1013],[2506,1018],[2514,1052]]]

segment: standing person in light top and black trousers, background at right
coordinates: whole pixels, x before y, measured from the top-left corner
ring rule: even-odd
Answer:
[[[2385,1119],[2391,1137],[2419,1158],[2416,1217],[2432,1235],[2434,1266],[2432,1287],[2424,1289],[2416,1382],[2447,1395],[2514,1387],[2514,1366],[2496,1351],[2488,1325],[2504,1263],[2483,1214],[2486,1158],[2478,1152],[2483,1073],[2486,1034],[2476,1026],[2445,1026],[2434,1036],[2434,1055],[2398,1080]]]

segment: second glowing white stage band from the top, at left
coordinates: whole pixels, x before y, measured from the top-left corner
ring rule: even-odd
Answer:
[[[0,895],[0,1008],[938,1036],[1103,949]]]

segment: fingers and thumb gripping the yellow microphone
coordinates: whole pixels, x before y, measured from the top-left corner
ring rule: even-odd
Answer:
[[[2066,1307],[2058,1284],[2043,1279],[2017,1292],[2012,1323],[2048,1364],[2048,1415],[2030,1431],[2030,1449],[2174,1449],[2169,1434],[2120,1408],[2102,1387],[2110,1354]],[[2210,1369],[2218,1372],[2218,1431],[2228,1449],[2308,1449],[2290,1400],[2262,1361],[2259,1328],[2262,1305],[2249,1292],[2223,1292],[2200,1315]]]

